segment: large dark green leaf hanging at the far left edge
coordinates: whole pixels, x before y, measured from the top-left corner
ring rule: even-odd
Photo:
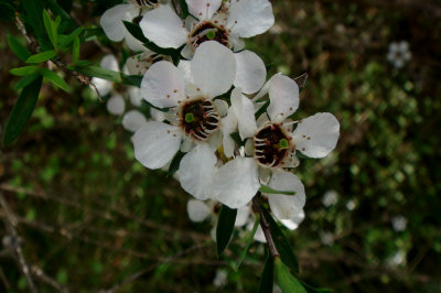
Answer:
[[[29,119],[31,119],[39,98],[42,79],[43,77],[39,76],[21,91],[4,127],[3,145],[10,145],[24,129]]]

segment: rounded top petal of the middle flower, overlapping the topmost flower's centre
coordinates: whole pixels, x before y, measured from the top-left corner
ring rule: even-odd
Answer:
[[[215,41],[202,43],[191,61],[193,80],[207,98],[225,94],[236,76],[233,52]]]

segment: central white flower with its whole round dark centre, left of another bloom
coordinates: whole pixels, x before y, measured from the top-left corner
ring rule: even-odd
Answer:
[[[159,108],[172,108],[171,123],[149,121],[133,135],[135,156],[146,167],[160,169],[172,160],[183,140],[194,143],[180,163],[182,187],[197,199],[211,197],[209,184],[217,158],[209,144],[220,129],[219,108],[213,99],[229,90],[236,77],[232,51],[216,42],[205,42],[190,63],[189,83],[182,70],[169,62],[158,62],[141,83],[142,97]],[[216,143],[214,143],[216,145]],[[217,145],[216,145],[217,146]]]

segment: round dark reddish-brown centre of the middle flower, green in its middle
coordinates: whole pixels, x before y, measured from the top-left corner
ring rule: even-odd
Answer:
[[[219,115],[209,100],[192,100],[182,107],[181,126],[185,133],[197,140],[206,141],[218,129],[219,121]]]

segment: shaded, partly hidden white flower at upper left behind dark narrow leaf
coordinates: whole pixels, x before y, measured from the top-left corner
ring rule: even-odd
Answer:
[[[114,42],[126,40],[127,46],[132,51],[146,51],[140,41],[132,36],[122,21],[132,22],[144,11],[158,7],[158,1],[133,0],[127,4],[115,6],[104,12],[99,20],[107,37]]]

